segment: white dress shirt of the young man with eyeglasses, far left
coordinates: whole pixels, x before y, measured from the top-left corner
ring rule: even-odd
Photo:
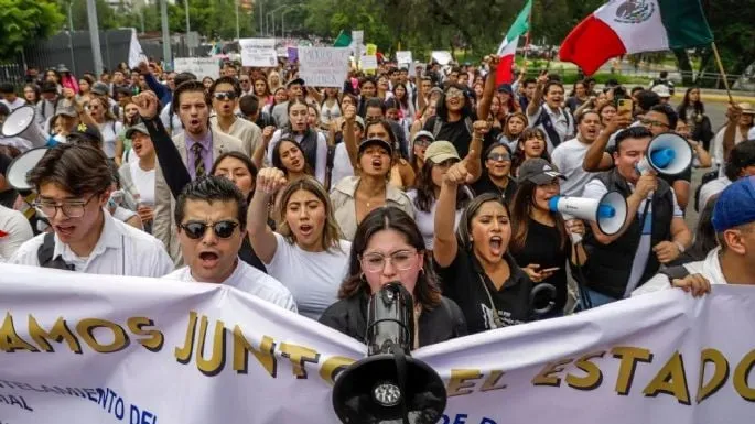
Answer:
[[[55,235],[53,258],[58,256],[77,272],[88,274],[162,276],[173,271],[173,261],[160,240],[115,219],[107,210],[103,232],[89,257],[82,258]],[[39,267],[37,251],[44,233],[21,244],[9,263]]]

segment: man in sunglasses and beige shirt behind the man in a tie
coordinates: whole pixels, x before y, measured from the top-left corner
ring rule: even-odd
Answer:
[[[209,117],[209,123],[216,130],[237,138],[244,146],[244,152],[251,157],[262,142],[262,130],[256,123],[240,119],[236,115],[241,87],[231,77],[220,77],[209,87],[213,97],[215,115]]]

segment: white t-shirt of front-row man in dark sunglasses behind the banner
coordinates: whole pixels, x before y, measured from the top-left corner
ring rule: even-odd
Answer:
[[[165,279],[202,283],[192,276],[192,270],[188,267],[171,272],[165,275]],[[234,273],[223,284],[236,287],[284,309],[296,312],[296,303],[293,301],[291,292],[283,284],[240,259]]]

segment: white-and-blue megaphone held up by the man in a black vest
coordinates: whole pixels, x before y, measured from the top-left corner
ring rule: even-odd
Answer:
[[[683,137],[665,132],[650,140],[645,157],[637,164],[637,172],[640,175],[647,171],[679,175],[692,165],[693,159],[692,148]]]

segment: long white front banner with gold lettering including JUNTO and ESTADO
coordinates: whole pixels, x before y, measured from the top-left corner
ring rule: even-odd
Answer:
[[[0,265],[3,424],[337,422],[365,346],[235,289]],[[755,290],[679,290],[416,350],[443,424],[748,423]]]

